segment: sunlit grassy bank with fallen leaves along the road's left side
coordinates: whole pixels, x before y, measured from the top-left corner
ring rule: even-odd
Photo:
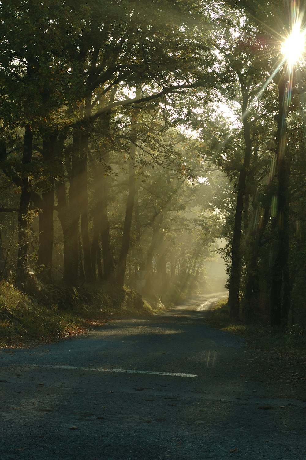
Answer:
[[[41,287],[35,296],[0,282],[0,348],[31,346],[84,332],[111,318],[150,315],[162,309],[128,288],[91,285]]]

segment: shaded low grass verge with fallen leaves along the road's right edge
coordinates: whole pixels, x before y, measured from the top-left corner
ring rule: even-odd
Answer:
[[[302,329],[296,327],[286,333],[274,334],[268,327],[232,321],[227,299],[219,300],[215,309],[205,316],[204,321],[214,328],[243,337],[252,348],[295,352],[306,356],[306,334]]]

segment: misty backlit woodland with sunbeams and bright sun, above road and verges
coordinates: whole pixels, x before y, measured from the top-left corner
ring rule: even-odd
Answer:
[[[233,320],[303,327],[305,35],[294,0],[1,2],[2,282],[171,297],[219,251]]]

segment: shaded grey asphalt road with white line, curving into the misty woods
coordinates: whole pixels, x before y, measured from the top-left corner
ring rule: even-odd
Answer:
[[[0,459],[305,460],[306,402],[204,324],[222,296],[1,350]]]

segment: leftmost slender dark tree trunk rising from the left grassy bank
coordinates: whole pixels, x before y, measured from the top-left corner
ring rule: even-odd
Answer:
[[[33,132],[29,123],[25,127],[23,144],[23,165],[30,163],[33,149]],[[29,206],[31,201],[30,179],[24,175],[18,210],[18,258],[16,268],[16,285],[19,289],[27,289],[29,282],[28,267],[28,232],[29,232]]]

